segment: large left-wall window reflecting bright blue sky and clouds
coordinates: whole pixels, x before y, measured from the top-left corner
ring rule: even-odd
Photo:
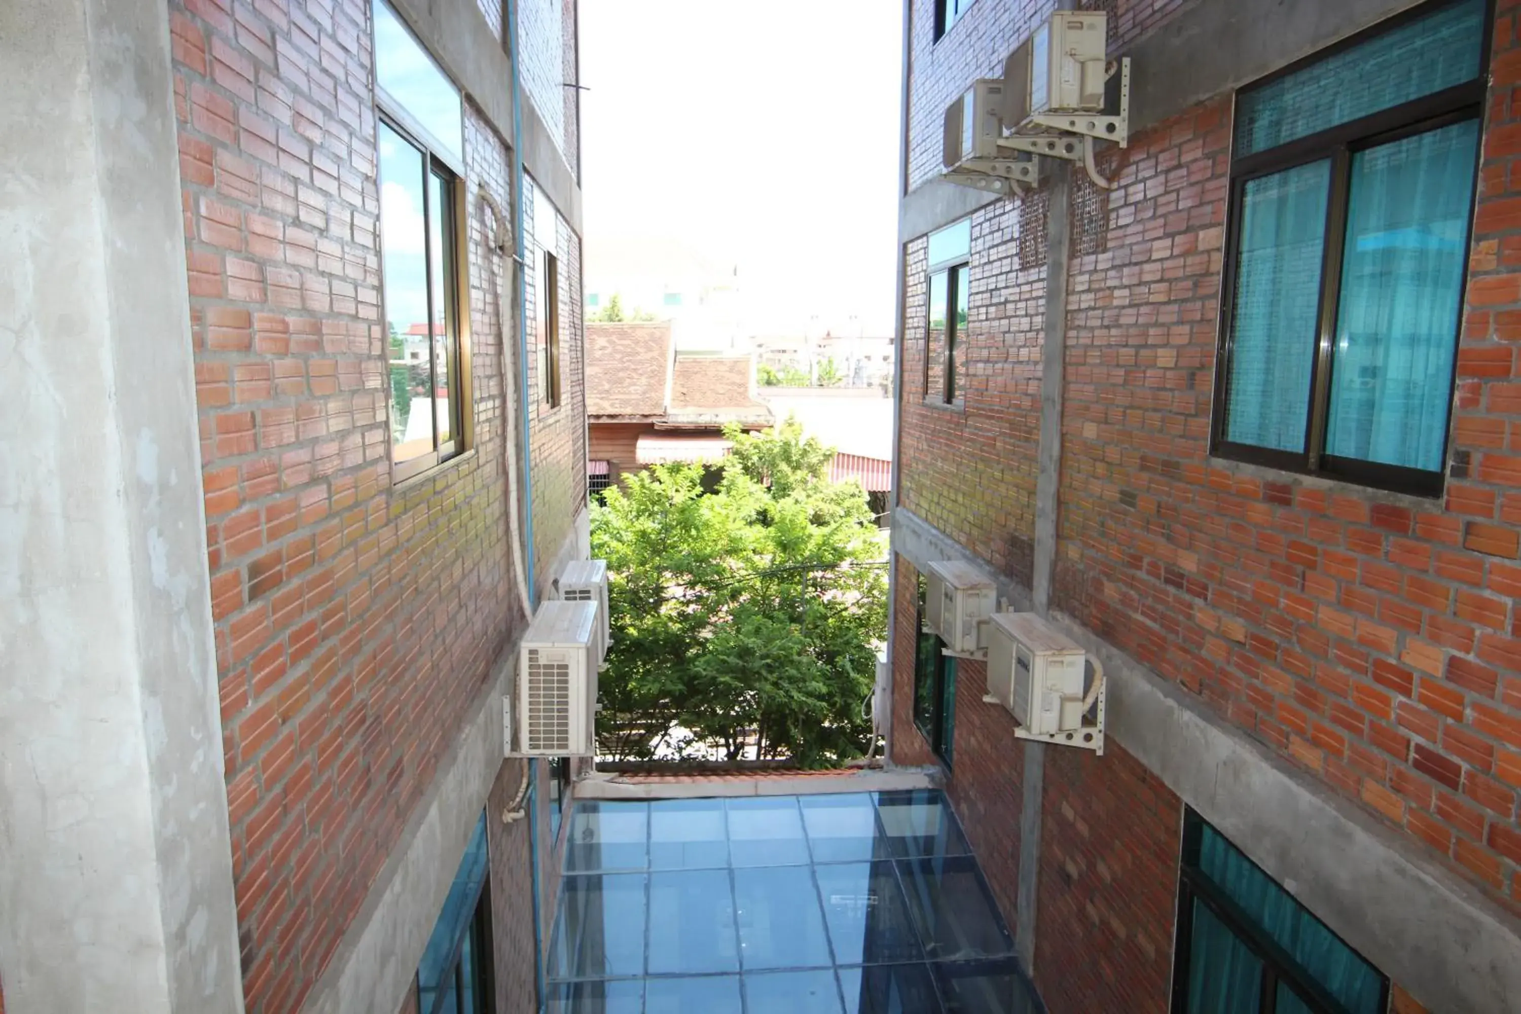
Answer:
[[[468,441],[462,109],[400,18],[382,0],[373,11],[391,462],[406,479]]]

